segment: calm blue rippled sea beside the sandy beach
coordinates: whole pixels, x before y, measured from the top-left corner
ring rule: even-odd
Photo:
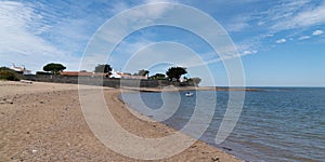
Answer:
[[[204,96],[204,108],[214,108],[212,121],[200,137],[246,161],[325,161],[325,89],[262,87],[246,92],[239,120],[231,135],[214,145],[216,134],[226,109],[229,92],[197,91],[192,97],[185,92],[140,93],[151,109],[168,107],[181,102],[172,116],[162,122],[180,130],[191,119],[196,96]],[[152,117],[142,109],[135,93],[123,94],[122,99],[133,109]],[[217,98],[213,104],[212,98]],[[153,117],[155,118],[155,117]]]

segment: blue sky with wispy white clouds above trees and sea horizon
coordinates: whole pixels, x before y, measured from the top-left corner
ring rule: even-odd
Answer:
[[[79,70],[88,41],[106,21],[127,9],[156,2],[161,1],[0,1],[0,65],[15,63],[35,72],[47,63],[56,62],[66,65],[67,70]],[[243,62],[248,86],[325,86],[325,1],[162,2],[196,8],[220,23],[237,48],[239,56],[234,57]],[[167,11],[153,9],[148,13],[158,17]],[[207,67],[216,85],[227,84],[222,59],[209,44],[176,27],[154,26],[134,31],[120,42],[108,59],[98,60],[110,64],[116,70],[125,69],[132,54],[154,50],[145,46],[167,41],[190,48],[209,63]],[[159,52],[155,57],[162,59],[165,55]],[[152,73],[164,72],[166,66],[169,64],[157,64],[148,69]],[[138,64],[136,68],[130,67],[128,72],[147,67]],[[191,77],[205,78],[198,71],[188,68]],[[203,85],[210,84],[203,82]]]

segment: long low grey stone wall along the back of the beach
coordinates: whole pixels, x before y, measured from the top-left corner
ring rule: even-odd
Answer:
[[[167,80],[136,80],[136,79],[113,79],[101,77],[70,77],[51,75],[26,75],[26,80],[39,82],[72,83],[101,85],[109,87],[131,86],[131,87],[158,87],[169,85]]]

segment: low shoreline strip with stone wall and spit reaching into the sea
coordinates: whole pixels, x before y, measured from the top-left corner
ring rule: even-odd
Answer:
[[[131,91],[153,92],[162,91],[263,91],[258,87],[221,87],[221,86],[198,86],[194,84],[182,84],[180,82],[169,82],[167,80],[135,80],[135,79],[112,79],[112,78],[91,78],[91,77],[67,77],[49,75],[28,75],[26,80],[38,82],[72,83],[102,85],[108,87],[121,87]],[[81,81],[81,82],[80,82]]]

